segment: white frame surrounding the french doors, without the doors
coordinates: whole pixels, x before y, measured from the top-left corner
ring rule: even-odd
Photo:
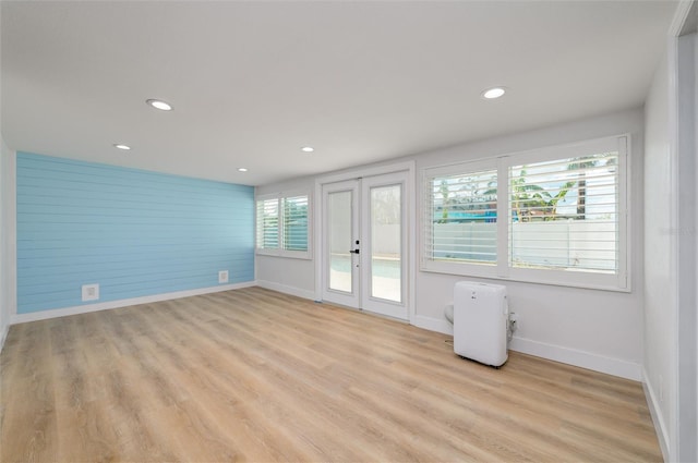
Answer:
[[[315,197],[322,198],[323,185],[327,183],[342,182],[346,180],[356,180],[363,176],[383,175],[395,172],[407,172],[407,181],[405,184],[405,209],[407,212],[406,234],[407,234],[407,276],[405,284],[407,284],[406,301],[408,320],[410,325],[414,325],[414,280],[417,277],[417,188],[414,161],[404,161],[385,166],[371,167],[365,169],[348,170],[341,173],[324,175],[315,179]],[[314,240],[315,248],[315,301],[323,301],[323,288],[325,288],[325,272],[323,271],[324,249],[325,249],[325,216],[322,210],[322,200],[315,202],[314,229],[316,231],[316,240]]]

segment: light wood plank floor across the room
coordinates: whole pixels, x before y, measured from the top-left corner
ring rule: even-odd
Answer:
[[[260,288],[11,327],[1,461],[661,461],[641,385]]]

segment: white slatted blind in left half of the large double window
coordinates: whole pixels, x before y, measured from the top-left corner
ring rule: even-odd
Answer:
[[[428,174],[425,192],[426,258],[496,265],[496,169]]]

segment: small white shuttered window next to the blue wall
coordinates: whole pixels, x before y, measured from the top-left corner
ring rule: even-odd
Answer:
[[[257,198],[257,254],[310,258],[309,195]]]

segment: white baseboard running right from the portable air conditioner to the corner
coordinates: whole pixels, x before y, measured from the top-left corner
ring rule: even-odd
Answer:
[[[576,349],[563,348],[562,345],[547,344],[545,342],[517,337],[512,339],[509,349],[524,354],[535,355],[538,357],[579,366],[594,371],[606,373],[635,381],[642,379],[642,367],[639,364],[619,358],[605,357]]]

